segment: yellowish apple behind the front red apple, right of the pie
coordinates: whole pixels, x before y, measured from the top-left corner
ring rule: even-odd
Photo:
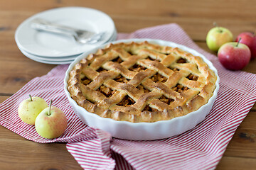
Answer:
[[[218,52],[221,45],[226,42],[232,42],[233,34],[227,28],[215,26],[211,28],[206,36],[206,44],[208,48],[214,52]]]

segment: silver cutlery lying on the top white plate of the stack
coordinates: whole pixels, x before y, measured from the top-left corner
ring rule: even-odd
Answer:
[[[57,33],[60,35],[72,36],[76,42],[82,44],[92,44],[98,42],[105,33],[92,33],[88,30],[80,30],[68,26],[63,26],[58,23],[46,21],[43,18],[36,18],[31,21],[31,28],[43,30],[49,33]]]

